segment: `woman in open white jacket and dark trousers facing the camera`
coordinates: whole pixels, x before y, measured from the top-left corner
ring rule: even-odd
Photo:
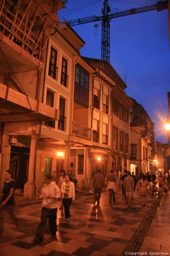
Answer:
[[[65,176],[65,181],[61,184],[62,202],[64,205],[64,223],[70,221],[70,205],[75,200],[75,184],[71,181],[70,175]]]

